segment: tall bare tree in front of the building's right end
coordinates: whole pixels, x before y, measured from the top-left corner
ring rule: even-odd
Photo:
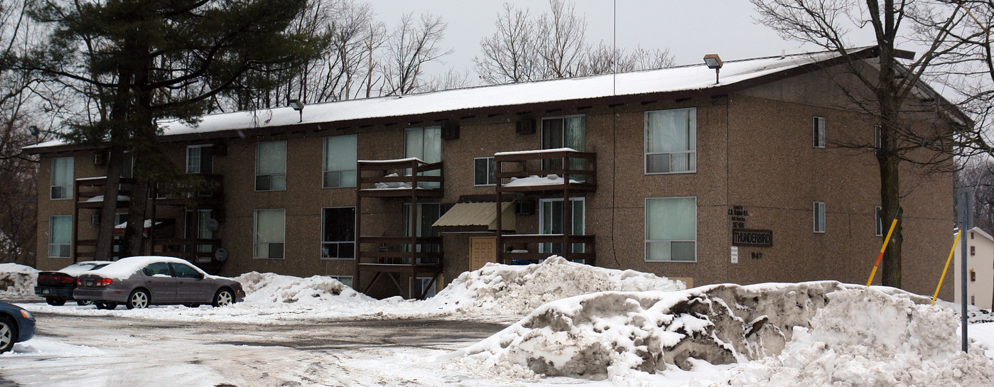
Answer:
[[[849,96],[851,107],[862,110],[878,122],[879,141],[876,144],[840,144],[862,147],[874,152],[880,167],[882,216],[894,219],[902,216],[901,172],[905,162],[950,166],[953,148],[952,130],[939,126],[922,130],[910,122],[908,114],[931,109],[933,118],[943,118],[943,99],[932,90],[921,87],[927,70],[939,58],[955,52],[957,45],[948,45],[948,31],[960,25],[963,13],[956,7],[938,6],[924,1],[886,0],[751,0],[759,12],[758,21],[774,29],[782,38],[811,43],[835,52],[855,79],[856,88],[847,88],[837,80]],[[852,55],[849,42],[851,28],[869,28],[876,42],[875,70],[862,58]],[[937,28],[928,28],[937,27]],[[901,62],[897,43],[902,37],[914,36],[924,44],[924,52],[916,59]],[[930,101],[930,103],[928,103]],[[949,122],[953,129],[957,123]],[[922,160],[921,152],[930,152]],[[902,226],[895,229],[891,244],[883,258],[883,284],[901,287]]]

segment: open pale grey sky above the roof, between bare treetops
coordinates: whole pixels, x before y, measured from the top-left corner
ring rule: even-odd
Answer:
[[[494,21],[510,2],[528,8],[531,15],[548,12],[548,0],[371,0],[379,19],[392,28],[405,13],[424,12],[442,17],[448,23],[443,48],[453,53],[445,57],[445,67],[473,72],[473,58],[479,54],[480,39],[494,33]],[[737,60],[818,51],[780,39],[769,28],[756,24],[751,3],[746,0],[574,0],[577,13],[585,16],[587,43],[601,40],[610,44],[615,29],[618,48],[669,49],[677,65],[702,62],[705,54],[718,54],[722,60]],[[862,35],[862,40],[859,40]],[[854,35],[853,44],[871,44],[871,36]],[[437,69],[435,69],[437,71]]]

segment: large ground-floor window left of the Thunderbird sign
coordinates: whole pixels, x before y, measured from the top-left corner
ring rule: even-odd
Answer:
[[[645,199],[645,260],[697,261],[697,197]]]

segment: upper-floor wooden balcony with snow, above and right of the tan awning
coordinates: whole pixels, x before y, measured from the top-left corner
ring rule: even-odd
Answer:
[[[494,163],[497,193],[592,193],[597,188],[595,153],[569,148],[500,152]]]

